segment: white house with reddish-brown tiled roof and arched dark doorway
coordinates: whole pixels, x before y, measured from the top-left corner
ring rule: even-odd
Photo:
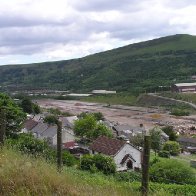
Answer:
[[[141,169],[142,152],[139,148],[123,140],[100,136],[93,141],[89,149],[91,154],[101,153],[111,156],[114,159],[117,171]]]

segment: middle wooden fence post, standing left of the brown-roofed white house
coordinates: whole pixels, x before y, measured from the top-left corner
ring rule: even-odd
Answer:
[[[62,122],[57,122],[57,170],[62,169]]]

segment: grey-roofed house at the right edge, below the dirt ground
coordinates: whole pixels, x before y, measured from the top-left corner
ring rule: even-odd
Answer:
[[[191,153],[196,152],[196,138],[191,137],[179,137],[177,142],[180,144],[182,149],[187,150]]]

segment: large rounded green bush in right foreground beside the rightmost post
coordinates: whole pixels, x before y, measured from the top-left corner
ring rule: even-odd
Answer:
[[[196,184],[194,171],[176,160],[161,160],[150,167],[150,179],[158,183]]]

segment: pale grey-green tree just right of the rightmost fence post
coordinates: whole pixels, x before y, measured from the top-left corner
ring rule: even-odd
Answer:
[[[159,127],[154,127],[150,130],[151,148],[154,150],[155,155],[161,150],[162,147],[161,132],[162,131]]]

